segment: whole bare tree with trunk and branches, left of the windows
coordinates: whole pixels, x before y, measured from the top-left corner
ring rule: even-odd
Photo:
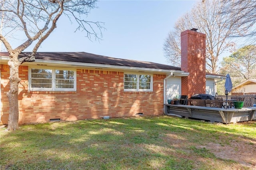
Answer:
[[[102,37],[101,25],[104,23],[83,19],[91,9],[96,8],[96,2],[97,0],[2,0],[0,2],[0,12],[2,12],[4,23],[0,40],[9,53],[10,68],[10,91],[7,93],[10,111],[7,130],[18,128],[19,66],[24,62],[35,61],[36,51],[56,28],[58,19],[62,15],[70,20],[74,19],[78,23],[76,30],[85,31],[89,39],[92,36],[100,39]],[[23,33],[26,39],[18,47],[12,48],[10,42],[15,33]],[[35,45],[32,52],[25,57],[18,58],[18,55],[33,42]]]

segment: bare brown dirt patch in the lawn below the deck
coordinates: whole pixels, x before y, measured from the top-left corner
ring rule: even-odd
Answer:
[[[249,125],[250,123],[252,122],[249,121],[238,124]],[[220,123],[220,125],[222,124]],[[218,126],[218,123],[216,126]],[[182,136],[186,136],[186,134],[182,134]],[[214,154],[216,158],[235,161],[238,162],[241,167],[246,166],[248,169],[256,170],[256,139],[243,138],[240,136],[232,139],[226,144],[208,142],[204,145],[198,145],[197,143],[188,142],[188,140],[186,140],[186,138],[182,138],[182,136],[180,136],[180,134],[171,133],[163,139],[168,141],[168,143],[174,148],[180,148],[181,150],[184,149],[184,151],[189,146],[195,146],[198,149],[206,148],[207,150],[210,150],[210,152]],[[226,141],[224,136],[222,136],[222,138],[220,137],[219,141]],[[190,157],[189,159],[193,160],[194,157]],[[237,168],[241,169],[241,167]]]

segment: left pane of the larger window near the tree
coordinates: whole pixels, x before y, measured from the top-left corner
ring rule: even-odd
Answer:
[[[31,69],[31,87],[52,88],[52,70]]]

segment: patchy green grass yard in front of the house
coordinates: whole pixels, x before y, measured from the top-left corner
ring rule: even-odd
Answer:
[[[256,121],[97,119],[0,130],[1,170],[253,170]]]

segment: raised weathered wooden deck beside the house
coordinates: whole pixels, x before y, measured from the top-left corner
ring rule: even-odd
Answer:
[[[234,123],[256,120],[256,107],[224,109],[190,105],[164,104],[165,115],[179,115],[211,122]]]

